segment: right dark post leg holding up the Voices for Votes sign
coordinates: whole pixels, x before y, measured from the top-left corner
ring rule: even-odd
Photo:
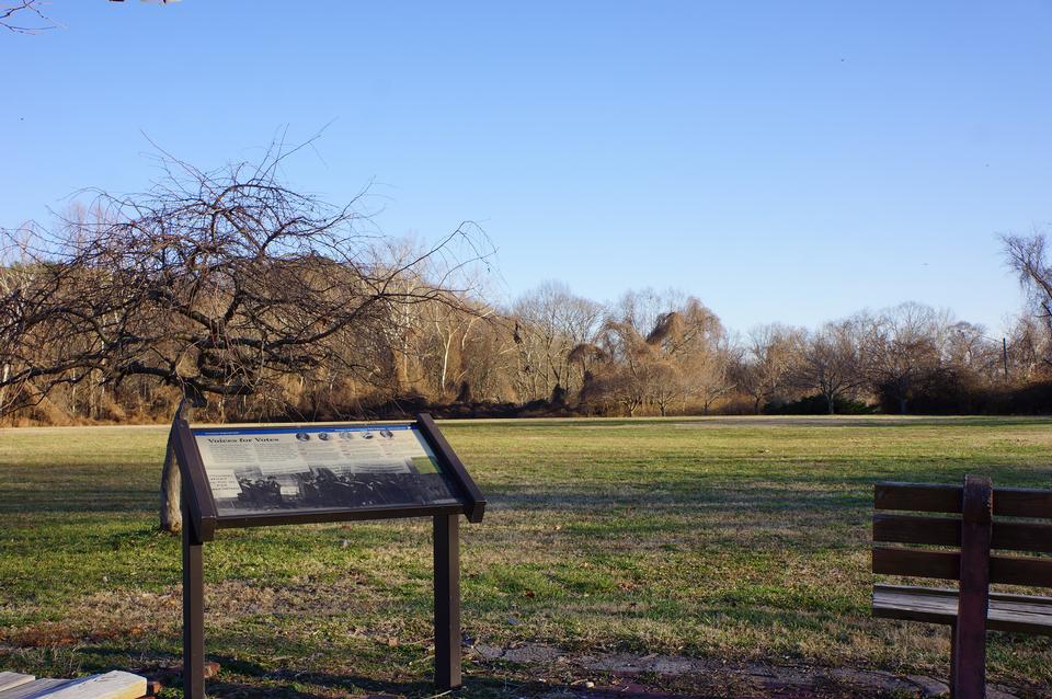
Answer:
[[[435,517],[435,685],[461,685],[459,515]]]

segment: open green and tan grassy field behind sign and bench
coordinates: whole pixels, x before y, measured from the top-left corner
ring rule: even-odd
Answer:
[[[945,628],[869,615],[878,480],[1052,486],[1039,419],[480,421],[443,429],[490,499],[462,531],[478,644],[947,674]],[[0,431],[0,669],[153,669],[180,653],[180,554],[156,531],[160,427]],[[430,522],[228,530],[205,548],[216,696],[426,696]],[[990,676],[1052,687],[1047,639]],[[469,657],[468,696],[572,664]],[[602,679],[602,678],[599,678]],[[180,696],[178,689],[165,696]]]

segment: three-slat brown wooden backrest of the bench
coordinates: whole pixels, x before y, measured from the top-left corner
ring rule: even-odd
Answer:
[[[980,488],[969,477],[969,488]],[[987,501],[975,504],[972,492],[971,512],[991,507]],[[992,525],[965,524],[965,488],[917,483],[878,483],[873,489],[873,573],[906,577],[961,578],[961,537],[982,542],[983,527],[988,526],[990,549],[1052,553],[1052,490],[1025,488],[992,489]],[[894,513],[894,514],[892,514]],[[956,516],[918,516],[903,513],[934,513]],[[982,515],[979,515],[982,518]],[[1032,522],[1034,519],[1043,522]],[[987,515],[987,522],[990,517]],[[977,528],[976,528],[977,527]],[[975,537],[979,537],[977,539]],[[884,543],[933,545],[953,547],[956,551],[888,547]],[[985,548],[985,547],[984,547]],[[988,582],[1032,587],[1052,587],[1052,559],[990,554]]]

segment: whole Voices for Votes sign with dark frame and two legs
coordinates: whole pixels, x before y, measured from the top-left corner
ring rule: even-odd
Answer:
[[[172,422],[183,478],[184,695],[204,698],[201,548],[217,529],[434,517],[435,680],[460,685],[459,516],[485,500],[430,415],[413,423],[194,427]]]

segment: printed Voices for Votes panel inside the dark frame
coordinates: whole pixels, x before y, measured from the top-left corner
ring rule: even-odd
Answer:
[[[195,429],[219,516],[458,502],[415,425]]]

